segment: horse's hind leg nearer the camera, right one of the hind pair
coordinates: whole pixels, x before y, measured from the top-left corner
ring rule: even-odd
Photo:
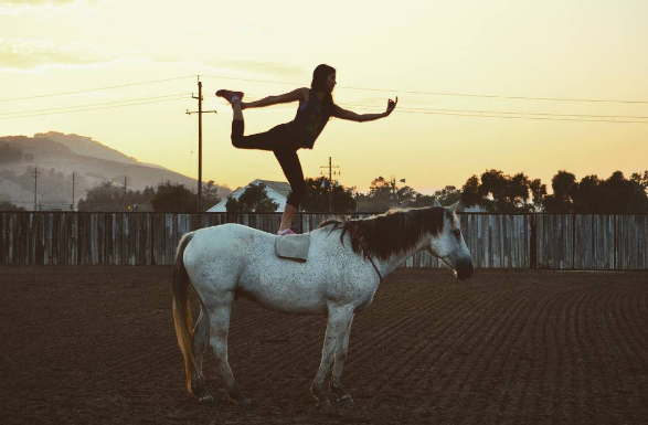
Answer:
[[[230,368],[230,363],[227,362],[227,334],[230,332],[230,315],[232,314],[234,295],[225,298],[230,299],[221,300],[210,309],[210,344],[216,355],[216,361],[223,374],[230,399],[237,405],[248,405],[249,400],[238,390],[238,385],[232,373],[232,368]]]

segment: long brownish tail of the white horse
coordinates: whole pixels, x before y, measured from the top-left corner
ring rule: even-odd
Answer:
[[[189,274],[184,268],[184,249],[193,237],[193,233],[185,234],[178,249],[176,251],[176,262],[173,265],[173,321],[176,322],[176,336],[182,354],[184,355],[184,370],[187,372],[187,390],[191,393],[191,375],[194,370],[200,370],[196,365],[195,354],[193,352],[193,318],[191,317],[191,306],[189,305]]]

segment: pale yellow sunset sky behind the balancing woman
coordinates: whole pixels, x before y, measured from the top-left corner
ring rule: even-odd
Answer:
[[[400,103],[379,121],[331,120],[312,151],[300,150],[307,177],[332,157],[347,187],[393,176],[432,193],[491,168],[548,187],[560,169],[578,179],[648,169],[648,1],[389,4],[2,0],[0,136],[88,136],[195,178],[198,117],[185,110],[196,109],[200,75],[203,108],[217,110],[203,116],[203,180],[283,181],[272,152],[232,147],[231,108],[214,92],[278,95],[327,63],[342,107]],[[70,92],[81,93],[34,97]],[[293,119],[296,107],[246,110],[246,132]]]

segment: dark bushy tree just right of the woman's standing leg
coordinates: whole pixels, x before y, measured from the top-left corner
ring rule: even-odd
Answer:
[[[347,189],[342,184],[334,184],[332,189],[329,189],[328,179],[325,177],[316,179],[307,178],[305,183],[306,194],[300,204],[304,211],[329,211],[329,193],[331,190],[331,208],[333,212],[350,212],[355,210],[353,188]]]

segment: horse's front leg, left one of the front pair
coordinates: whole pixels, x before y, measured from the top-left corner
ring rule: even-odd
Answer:
[[[323,349],[321,350],[321,362],[319,370],[312,381],[312,395],[317,399],[317,407],[328,408],[331,406],[325,393],[325,380],[329,373],[331,364],[336,355],[338,343],[344,336],[344,331],[349,327],[349,322],[353,318],[353,308],[344,307],[329,307],[329,320],[327,326],[327,333],[325,337]]]

